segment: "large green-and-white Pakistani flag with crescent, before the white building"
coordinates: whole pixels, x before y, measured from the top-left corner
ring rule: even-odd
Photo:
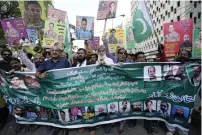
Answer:
[[[139,0],[138,8],[133,16],[133,34],[136,43],[147,39],[153,33],[152,22],[144,0]]]

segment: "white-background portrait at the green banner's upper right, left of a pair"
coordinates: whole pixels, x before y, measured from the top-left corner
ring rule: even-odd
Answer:
[[[144,67],[144,81],[161,81],[161,66],[145,66]]]

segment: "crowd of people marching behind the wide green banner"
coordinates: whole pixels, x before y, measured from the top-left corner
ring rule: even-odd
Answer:
[[[108,49],[108,40],[106,40],[105,37],[102,38],[103,45],[100,45],[97,49],[97,53],[93,53],[92,49],[90,49],[90,45],[87,41],[84,42],[85,48],[79,48],[77,53],[71,58],[71,61],[68,61],[68,54],[62,52],[60,47],[53,46],[51,49],[44,49],[44,52],[38,53],[33,56],[33,59],[29,59],[26,55],[26,53],[23,51],[22,44],[16,43],[15,47],[18,50],[18,56],[17,58],[14,58],[12,56],[12,51],[5,48],[1,51],[2,61],[0,61],[0,69],[5,70],[12,74],[15,71],[21,71],[21,72],[36,72],[36,77],[40,79],[44,79],[47,77],[46,72],[53,69],[62,69],[62,68],[71,68],[71,67],[85,67],[92,64],[123,64],[123,63],[136,63],[136,62],[147,62],[145,53],[144,52],[137,52],[135,54],[128,54],[127,50],[124,48],[118,48],[116,55],[113,55],[109,52]],[[187,50],[180,50],[178,57],[176,58],[176,61],[186,63],[189,62],[191,58],[191,53]],[[167,59],[165,57],[164,51],[163,51],[163,45],[159,45],[159,55],[157,62],[166,62]],[[174,68],[174,67],[173,67]],[[149,72],[152,72],[148,69]],[[169,77],[169,76],[168,76]],[[15,78],[16,79],[19,78]],[[155,78],[153,78],[155,79]],[[196,98],[197,103],[195,103],[194,106],[194,113],[196,115],[193,116],[193,122],[192,126],[190,128],[189,133],[179,130],[181,135],[198,135],[200,133],[200,90],[198,92],[198,96]],[[127,104],[123,103],[123,105]],[[145,103],[146,106],[149,106],[152,104],[152,101],[148,101]],[[163,106],[164,105],[164,106]],[[163,104],[163,107],[166,107],[167,104]],[[165,109],[165,108],[164,108]],[[7,118],[8,118],[8,108],[7,104],[4,101],[3,97],[0,97],[0,129],[3,129],[3,127],[6,124]],[[61,112],[63,114],[64,112]],[[124,132],[124,130],[131,129],[136,125],[137,120],[127,120],[127,121],[120,121],[119,124],[119,133]],[[199,122],[198,124],[196,124]],[[165,124],[168,130],[167,135],[172,135],[175,132],[174,126],[169,126]],[[19,126],[15,130],[15,134],[18,134],[23,128],[25,128],[26,132],[34,132],[36,131],[40,126],[37,125],[22,125],[19,124]],[[113,124],[105,124],[103,125],[105,129],[105,135],[109,135],[111,133],[111,128],[113,127]],[[87,127],[87,128],[80,128],[79,132],[83,132],[84,129],[89,130],[90,135],[95,135],[95,130],[97,127]],[[151,121],[151,120],[144,120],[144,128],[147,130],[149,134],[158,132],[157,130],[157,121]],[[47,133],[50,133],[54,129],[54,132],[52,135],[57,135],[61,130],[63,132],[63,135],[68,135],[68,129],[60,129],[55,128],[51,126],[47,126]],[[193,134],[193,132],[195,134]]]

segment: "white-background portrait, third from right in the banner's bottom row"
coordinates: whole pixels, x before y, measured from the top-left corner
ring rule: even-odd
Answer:
[[[144,102],[144,112],[156,112],[156,100],[147,100]]]

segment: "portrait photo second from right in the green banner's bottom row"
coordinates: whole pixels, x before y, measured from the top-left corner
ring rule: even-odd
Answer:
[[[171,112],[171,104],[163,101],[163,100],[158,100],[157,102],[157,112],[160,114],[165,119],[170,118],[170,112]]]

